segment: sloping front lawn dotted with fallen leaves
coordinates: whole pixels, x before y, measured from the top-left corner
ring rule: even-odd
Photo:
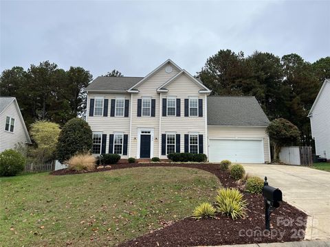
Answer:
[[[219,180],[198,169],[137,167],[0,178],[0,246],[113,246],[190,216]]]

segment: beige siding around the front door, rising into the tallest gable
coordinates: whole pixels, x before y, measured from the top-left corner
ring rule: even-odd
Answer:
[[[172,66],[173,71],[171,73],[166,73],[165,64],[163,67],[156,71],[154,75],[148,78],[146,81],[142,82],[137,89],[140,93],[133,93],[133,108],[132,108],[132,128],[131,128],[131,156],[137,157],[137,131],[139,128],[152,128],[154,131],[153,136],[153,154],[151,157],[159,157],[159,93],[157,93],[157,88],[162,86],[165,82],[177,75],[179,71]],[[142,99],[142,97],[151,97],[156,99],[155,101],[155,117],[137,117],[137,99]],[[155,140],[157,138],[157,141]]]

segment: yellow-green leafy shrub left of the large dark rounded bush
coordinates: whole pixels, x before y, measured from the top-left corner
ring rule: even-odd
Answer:
[[[37,160],[44,162],[54,156],[60,132],[60,126],[50,121],[36,121],[31,125],[30,134],[37,145],[31,151]]]

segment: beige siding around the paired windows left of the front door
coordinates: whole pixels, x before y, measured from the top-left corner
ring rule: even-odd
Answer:
[[[109,153],[109,134],[114,132],[123,132],[124,134],[129,134],[129,122],[131,117],[131,95],[130,94],[120,94],[120,93],[89,93],[89,99],[95,99],[96,97],[103,97],[104,99],[109,99],[108,105],[108,116],[107,117],[90,117],[89,116],[89,102],[87,104],[87,122],[91,126],[93,132],[102,132],[107,134],[107,145],[106,153]],[[129,99],[129,117],[110,117],[111,111],[111,99],[116,97],[121,97],[124,99]],[[130,137],[129,137],[130,140]],[[127,158],[129,154],[129,141],[127,143],[127,156],[122,156],[122,158]]]

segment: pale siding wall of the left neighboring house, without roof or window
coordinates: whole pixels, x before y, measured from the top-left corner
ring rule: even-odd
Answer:
[[[21,121],[17,110],[16,103],[13,101],[0,115],[0,152],[14,148],[17,143],[25,144],[28,142],[28,137],[23,127],[24,123]],[[15,119],[14,132],[5,131],[6,117]]]

